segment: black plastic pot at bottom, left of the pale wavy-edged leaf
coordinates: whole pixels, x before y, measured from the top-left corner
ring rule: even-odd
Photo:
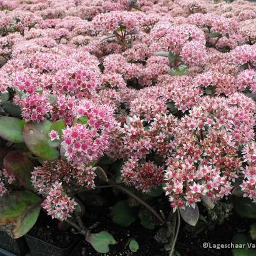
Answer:
[[[25,239],[29,246],[31,256],[69,256],[77,244],[75,241],[67,248],[59,248],[36,237],[31,237],[31,235],[25,235]]]

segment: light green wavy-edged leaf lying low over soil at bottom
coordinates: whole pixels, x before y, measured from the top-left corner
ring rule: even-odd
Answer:
[[[106,231],[87,235],[86,241],[92,245],[94,250],[101,254],[107,254],[109,252],[109,245],[116,244],[114,237]]]

